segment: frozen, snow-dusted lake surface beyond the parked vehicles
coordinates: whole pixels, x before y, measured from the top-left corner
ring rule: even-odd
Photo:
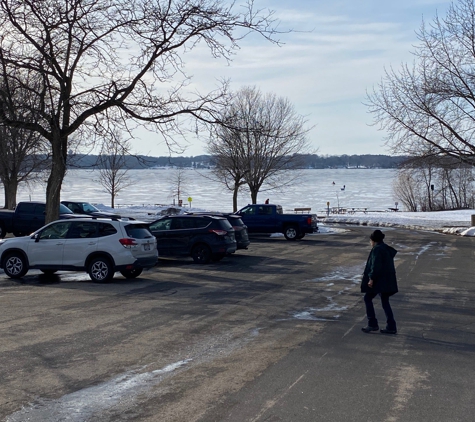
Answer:
[[[213,211],[231,211],[232,193],[223,184],[213,181],[210,170],[186,170],[186,180],[182,184],[180,198],[188,205],[192,198],[193,208]],[[303,170],[292,186],[281,190],[267,191],[264,186],[258,202],[267,198],[271,203],[281,204],[284,209],[311,207],[312,211],[330,206],[345,208],[368,208],[386,210],[394,207],[393,169],[322,169]],[[116,197],[116,206],[172,204],[174,169],[130,170],[132,185]],[[292,175],[289,172],[289,175]],[[70,170],[61,191],[63,200],[84,200],[97,204],[110,205],[110,196],[99,184],[99,172],[91,170]],[[334,184],[333,184],[334,182]],[[343,186],[345,189],[342,190]],[[3,189],[2,189],[3,191]],[[38,181],[34,186],[20,187],[17,200],[45,200],[46,185]],[[3,192],[2,192],[3,195]],[[238,197],[239,208],[251,202],[249,192],[242,191]]]

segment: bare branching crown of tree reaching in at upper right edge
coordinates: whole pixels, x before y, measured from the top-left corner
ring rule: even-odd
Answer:
[[[395,153],[419,145],[475,165],[475,2],[458,0],[419,31],[413,65],[387,70],[368,94],[375,123]]]

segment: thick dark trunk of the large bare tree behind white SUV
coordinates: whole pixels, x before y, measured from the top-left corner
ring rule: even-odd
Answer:
[[[66,175],[67,145],[67,137],[61,138],[59,133],[53,135],[51,173],[46,186],[46,224],[59,218],[61,185]]]

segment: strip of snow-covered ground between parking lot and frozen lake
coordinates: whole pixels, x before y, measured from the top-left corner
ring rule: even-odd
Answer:
[[[104,204],[95,204],[103,211],[111,211]],[[172,206],[170,206],[172,207]],[[199,208],[175,208],[177,212],[208,211]],[[124,216],[151,221],[167,212],[164,206],[120,207],[114,211]],[[356,212],[355,214],[319,214],[319,232],[330,233],[341,231],[335,225],[359,224],[375,227],[402,227],[408,229],[431,230],[461,236],[475,236],[475,227],[471,226],[471,216],[475,210],[438,211],[438,212]]]

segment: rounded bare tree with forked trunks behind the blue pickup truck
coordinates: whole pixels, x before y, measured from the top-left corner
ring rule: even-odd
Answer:
[[[264,183],[269,189],[281,188],[298,177],[285,171],[301,167],[310,129],[288,99],[244,87],[224,110],[221,121],[208,152],[213,156],[214,173],[233,191],[234,211],[243,185],[248,186],[255,204]]]

